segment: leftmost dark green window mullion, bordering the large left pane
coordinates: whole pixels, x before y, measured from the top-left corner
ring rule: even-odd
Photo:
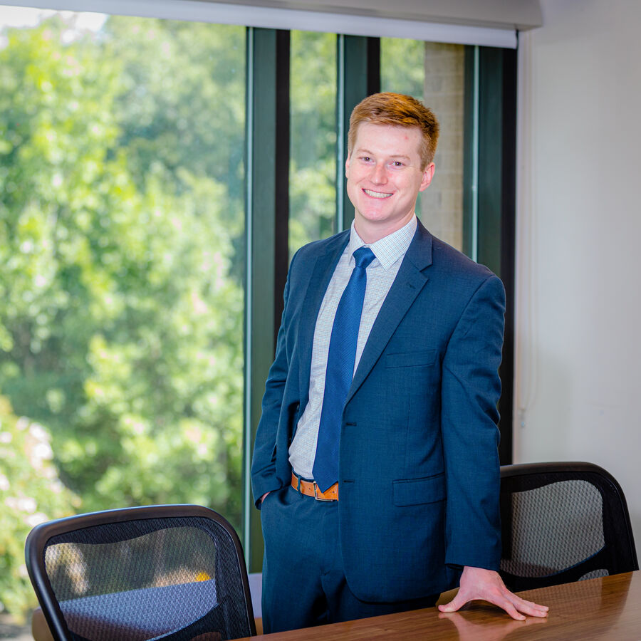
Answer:
[[[289,31],[247,30],[244,548],[251,572],[261,570],[263,541],[249,468],[288,268],[289,43]]]

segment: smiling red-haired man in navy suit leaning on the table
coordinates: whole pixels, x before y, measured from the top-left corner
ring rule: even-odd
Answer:
[[[439,127],[405,95],[350,118],[350,231],[291,261],[252,484],[266,632],[485,599],[545,616],[496,570],[504,288],[415,202]]]

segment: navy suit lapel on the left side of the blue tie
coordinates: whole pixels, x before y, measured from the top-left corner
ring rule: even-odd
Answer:
[[[310,265],[311,276],[305,300],[303,301],[301,322],[298,326],[298,345],[304,346],[304,351],[301,351],[301,368],[298,379],[298,389],[301,392],[301,400],[303,401],[301,402],[301,407],[305,407],[308,400],[314,330],[316,328],[318,311],[320,310],[321,303],[323,303],[325,291],[327,291],[336,265],[349,240],[349,230],[343,232],[343,234],[334,236],[330,239],[325,251],[316,258],[316,262]]]

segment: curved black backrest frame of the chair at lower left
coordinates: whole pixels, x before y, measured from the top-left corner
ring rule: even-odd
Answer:
[[[88,514],[78,514],[59,518],[56,521],[48,521],[35,526],[28,534],[25,543],[25,560],[31,584],[38,597],[43,615],[46,618],[51,635],[56,641],[67,641],[73,638],[73,633],[68,630],[65,617],[61,610],[56,595],[48,578],[45,565],[44,551],[48,541],[56,536],[65,535],[83,528],[92,528],[95,526],[105,526],[113,523],[125,523],[130,521],[145,521],[147,519],[159,518],[206,518],[209,521],[216,522],[222,526],[234,545],[236,553],[236,563],[239,566],[239,575],[241,578],[241,588],[246,602],[247,625],[250,636],[256,635],[256,622],[254,612],[251,606],[251,594],[249,591],[249,580],[244,561],[243,548],[236,531],[229,521],[204,506],[179,504],[179,505],[152,505],[137,506],[122,509],[105,510],[100,512],[90,512]]]

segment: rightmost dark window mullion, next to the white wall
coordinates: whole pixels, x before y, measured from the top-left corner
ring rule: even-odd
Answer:
[[[512,462],[514,407],[516,51],[468,47],[465,78],[464,249],[500,276],[506,289],[499,402],[499,456],[505,465]]]

